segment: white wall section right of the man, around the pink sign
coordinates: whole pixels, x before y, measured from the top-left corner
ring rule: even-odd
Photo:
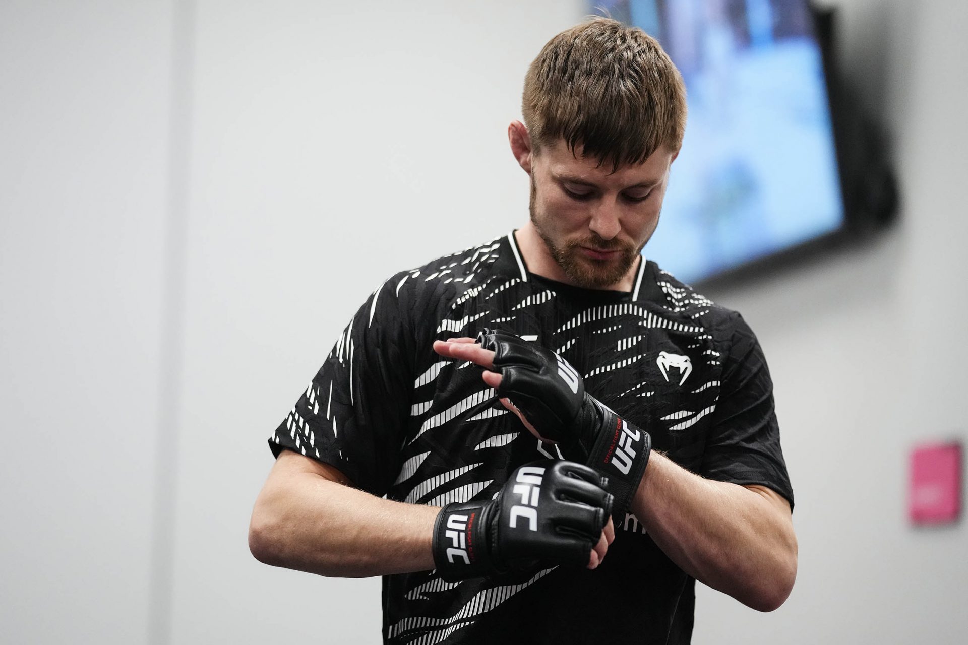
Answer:
[[[844,73],[893,132],[901,223],[860,252],[709,294],[743,312],[770,360],[800,572],[767,615],[701,590],[696,643],[968,640],[965,522],[906,518],[912,446],[968,440],[968,4],[839,6]]]

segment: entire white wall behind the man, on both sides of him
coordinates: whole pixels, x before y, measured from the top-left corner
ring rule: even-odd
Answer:
[[[801,569],[771,614],[701,587],[696,643],[968,634],[964,523],[904,513],[911,444],[966,433],[968,6],[837,4],[902,223],[710,294],[770,359]],[[584,7],[0,4],[5,639],[378,642],[377,579],[249,554],[265,438],[382,279],[524,221],[504,130]]]

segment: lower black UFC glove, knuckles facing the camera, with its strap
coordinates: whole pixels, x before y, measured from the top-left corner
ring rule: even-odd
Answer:
[[[485,502],[448,504],[434,525],[440,577],[464,580],[540,563],[587,566],[612,495],[587,466],[545,459],[521,466]]]

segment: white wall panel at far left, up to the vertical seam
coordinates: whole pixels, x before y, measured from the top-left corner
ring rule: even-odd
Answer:
[[[0,639],[145,638],[167,2],[0,3]]]

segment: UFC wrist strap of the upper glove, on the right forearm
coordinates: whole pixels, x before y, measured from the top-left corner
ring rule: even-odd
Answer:
[[[588,465],[606,479],[605,488],[615,496],[612,517],[624,520],[649,465],[652,439],[648,432],[622,419],[608,406],[595,401],[604,417]]]

